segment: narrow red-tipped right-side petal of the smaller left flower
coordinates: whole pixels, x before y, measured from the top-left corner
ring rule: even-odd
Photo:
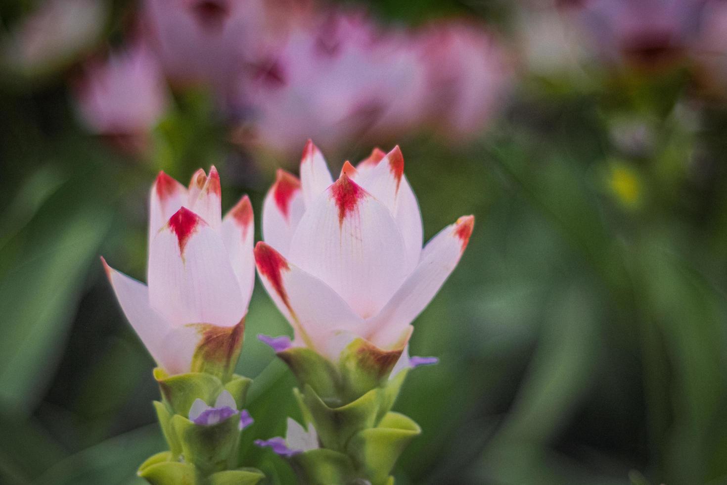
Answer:
[[[241,303],[247,307],[255,284],[255,260],[252,254],[255,236],[254,215],[248,196],[230,209],[222,220],[222,241],[240,287]]]

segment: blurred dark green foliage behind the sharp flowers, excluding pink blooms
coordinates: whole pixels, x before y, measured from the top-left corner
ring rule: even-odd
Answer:
[[[507,2],[373,6],[390,20],[463,13],[512,28]],[[115,7],[110,39],[126,6]],[[128,159],[79,127],[64,76],[0,89],[0,483],[139,483],[137,466],[164,448],[153,362],[98,256],[145,280],[158,169],[187,180],[216,164],[223,207],[249,193],[259,239],[274,170],[297,160],[230,145],[202,93],[177,97],[153,162]],[[727,483],[727,111],[698,101],[696,129],[681,116],[688,73],[600,79],[584,89],[523,73],[477,140],[397,140],[425,239],[477,218],[415,322],[412,352],[441,364],[411,372],[395,406],[424,430],[398,484]],[[622,119],[648,124],[647,155],[613,143]],[[335,171],[370,149],[326,155]],[[247,322],[237,372],[254,378],[256,423],[242,464],[291,483],[252,446],[297,412],[291,374],[254,338],[289,332],[260,284]]]

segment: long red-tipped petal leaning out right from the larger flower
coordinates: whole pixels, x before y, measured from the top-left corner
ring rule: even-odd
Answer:
[[[457,223],[447,226],[429,241],[414,273],[406,278],[381,313],[367,322],[374,332],[370,339],[374,345],[391,345],[426,308],[457,266],[470,239],[474,222],[471,215],[459,217]]]

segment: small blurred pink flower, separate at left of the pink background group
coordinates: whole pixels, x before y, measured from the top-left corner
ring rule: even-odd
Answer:
[[[143,151],[148,134],[169,105],[156,58],[142,44],[91,60],[76,86],[81,118],[92,132],[129,151]]]

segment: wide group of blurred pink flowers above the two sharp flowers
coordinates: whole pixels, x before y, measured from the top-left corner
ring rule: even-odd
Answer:
[[[474,135],[511,73],[495,37],[463,20],[382,28],[326,4],[145,0],[136,25],[129,54],[93,61],[77,100],[92,132],[137,148],[169,105],[161,76],[211,89],[239,143],[292,153],[309,137],[334,149],[424,128]]]

